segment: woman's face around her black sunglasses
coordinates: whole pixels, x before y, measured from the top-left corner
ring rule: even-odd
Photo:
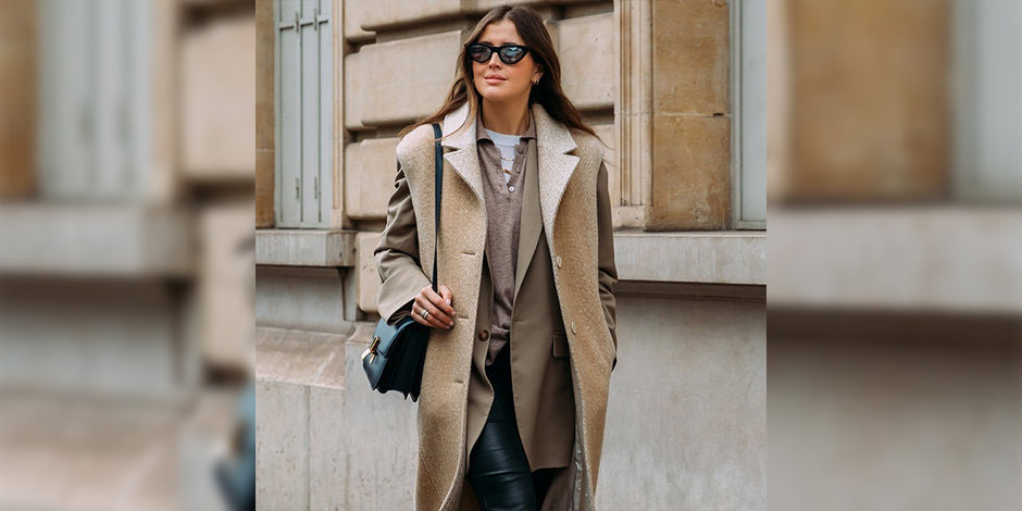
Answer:
[[[524,45],[514,23],[507,18],[487,25],[476,42],[491,47]],[[470,61],[475,90],[484,100],[491,102],[527,101],[533,82],[543,74],[531,52],[514,64],[503,63],[496,51],[485,63]]]

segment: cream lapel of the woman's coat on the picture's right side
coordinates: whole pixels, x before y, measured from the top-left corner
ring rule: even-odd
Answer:
[[[552,238],[553,221],[561,204],[561,197],[568,182],[571,180],[578,157],[568,154],[577,145],[571,132],[547,114],[539,104],[533,105],[533,119],[536,120],[536,139],[539,161],[539,205],[547,238]]]

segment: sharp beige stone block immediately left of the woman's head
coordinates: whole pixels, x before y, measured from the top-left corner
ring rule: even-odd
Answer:
[[[345,58],[345,126],[408,124],[436,111],[454,76],[461,33],[366,45]]]

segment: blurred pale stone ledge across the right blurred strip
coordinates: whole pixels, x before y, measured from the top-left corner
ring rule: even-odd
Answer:
[[[771,210],[771,306],[1022,312],[1022,211]]]

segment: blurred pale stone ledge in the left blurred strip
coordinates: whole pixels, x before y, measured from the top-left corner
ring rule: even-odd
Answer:
[[[185,277],[191,214],[139,204],[0,205],[0,274]]]

